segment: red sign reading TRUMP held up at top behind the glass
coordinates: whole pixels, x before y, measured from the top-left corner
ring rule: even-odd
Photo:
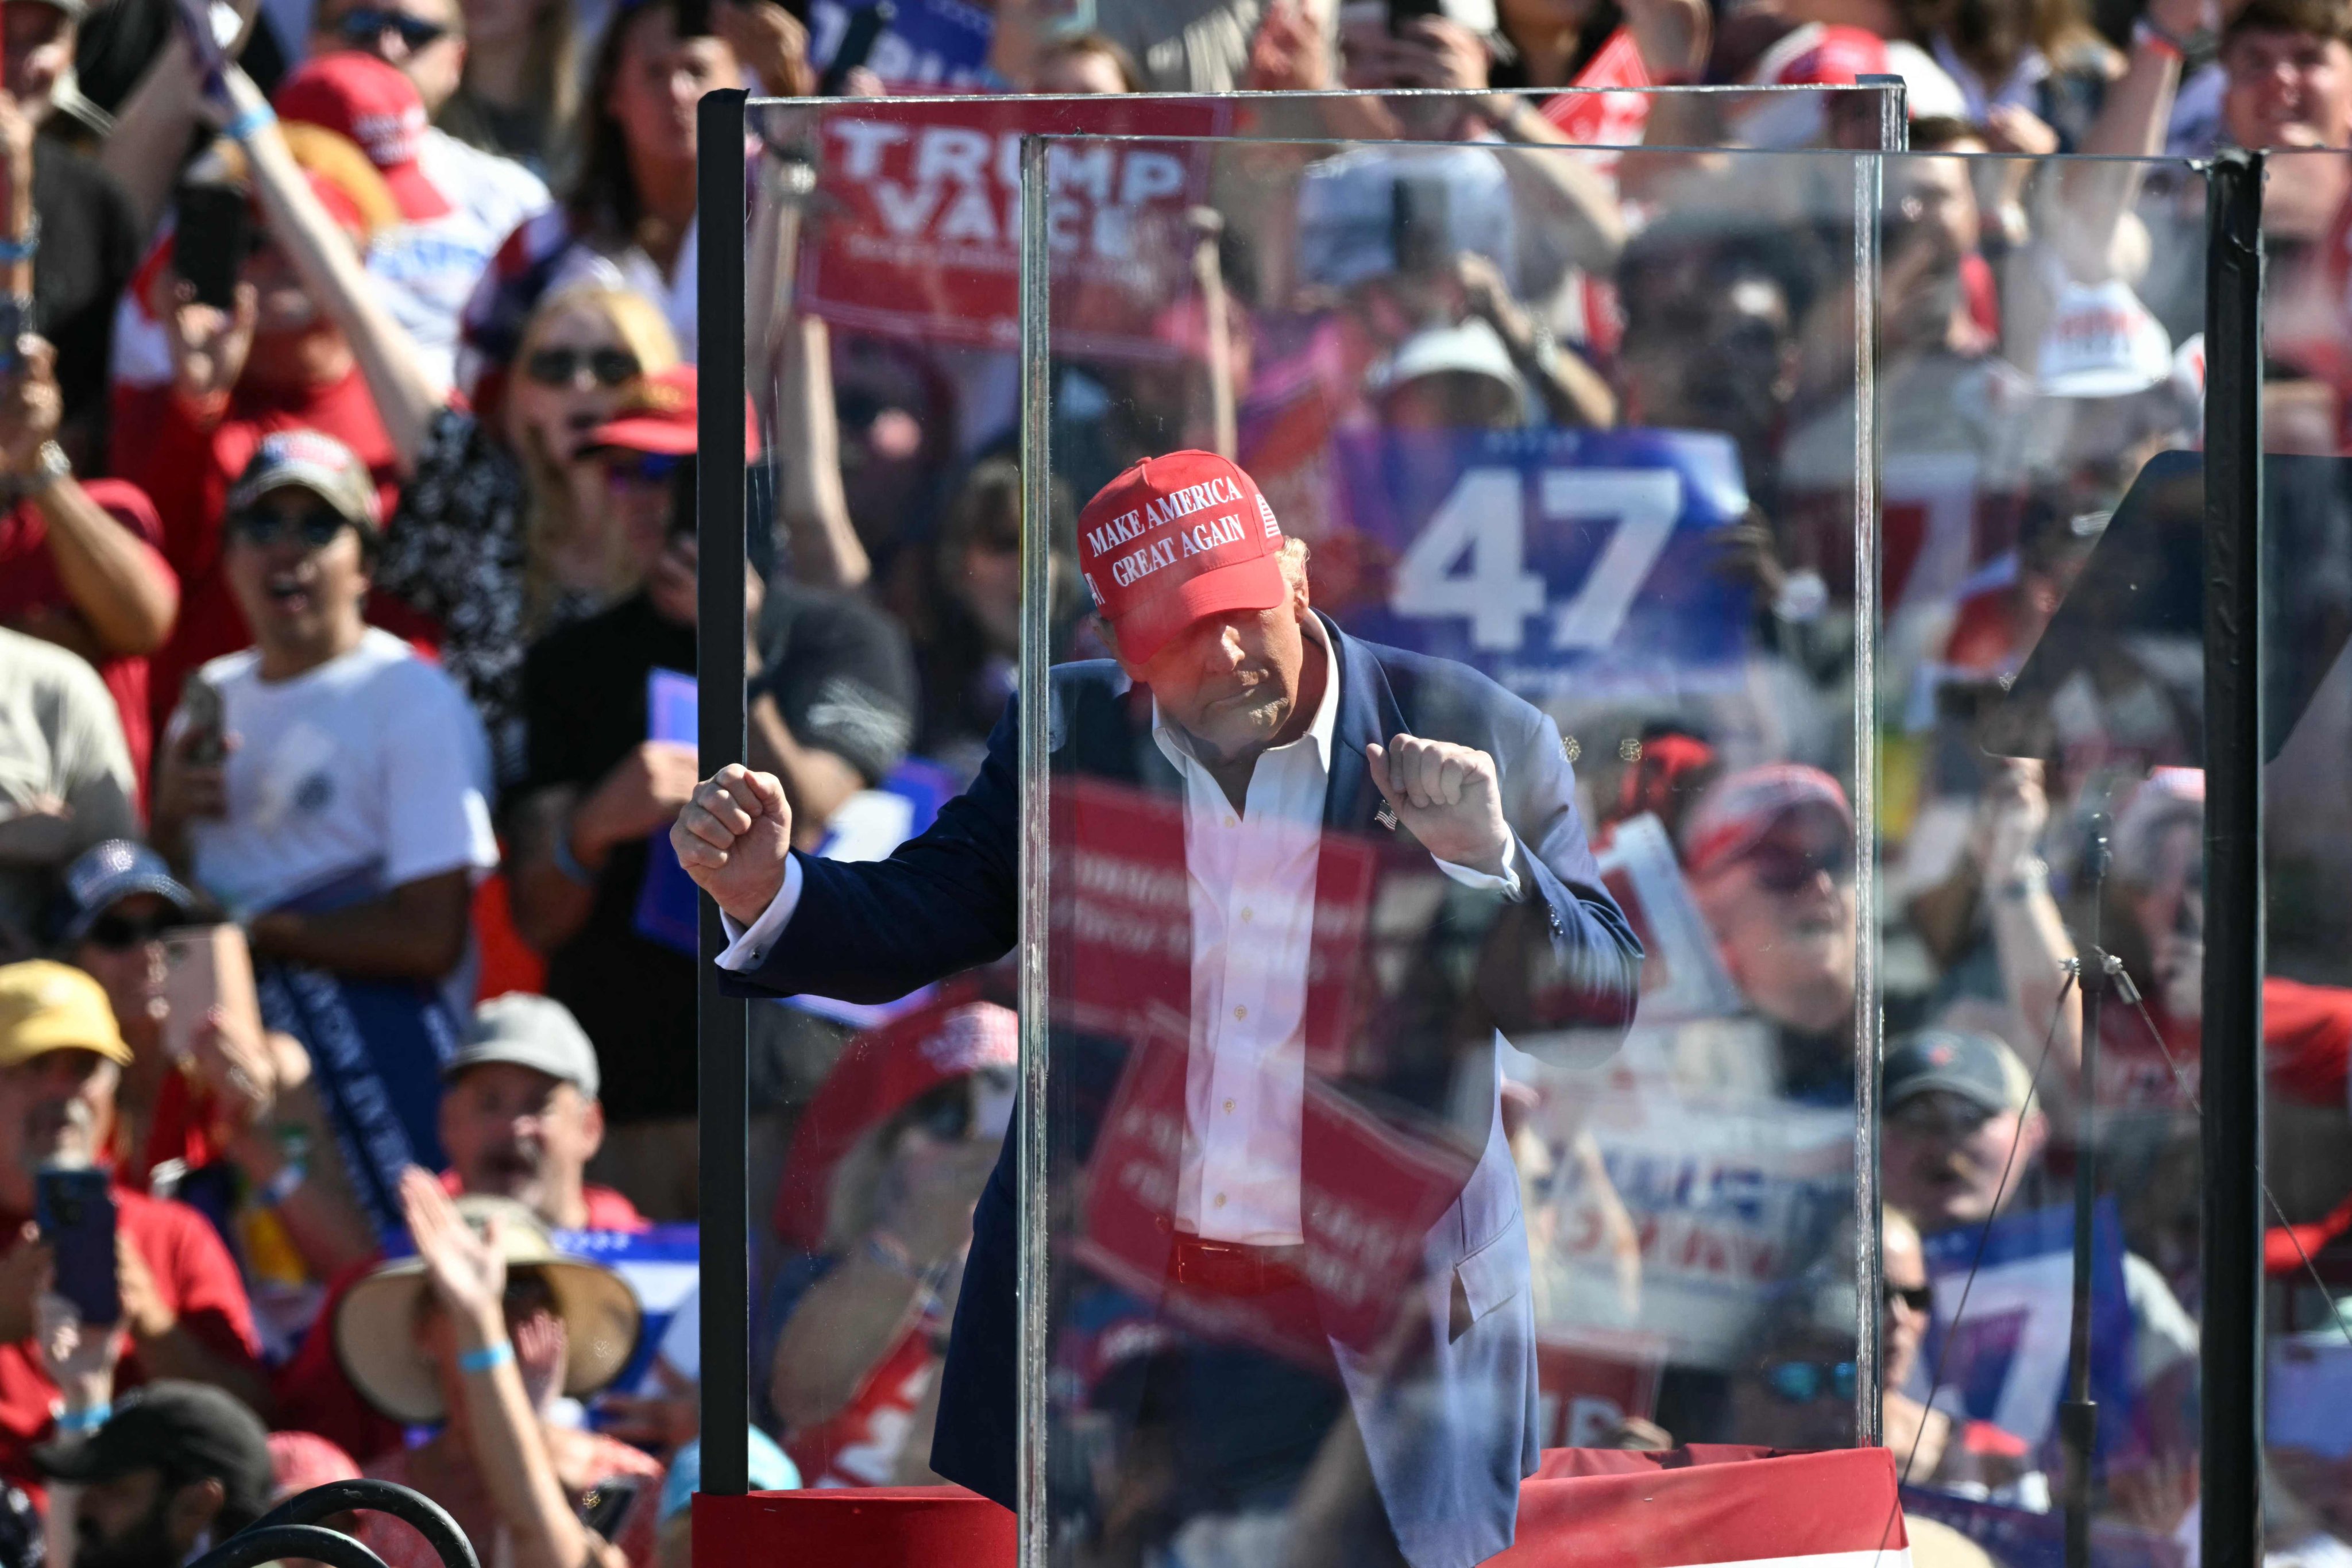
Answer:
[[[1054,143],[1054,343],[1063,353],[1171,360],[1162,315],[1192,289],[1185,209],[1209,197],[1207,101],[891,101],[887,118],[826,115],[816,223],[800,301],[840,327],[931,343],[1021,343],[1021,136],[1162,136]]]

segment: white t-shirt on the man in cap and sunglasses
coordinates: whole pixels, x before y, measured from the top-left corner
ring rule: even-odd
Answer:
[[[228,816],[191,839],[195,877],[221,903],[332,907],[499,863],[489,741],[456,682],[379,628],[287,682],[261,679],[259,663],[247,649],[205,665],[235,748]]]

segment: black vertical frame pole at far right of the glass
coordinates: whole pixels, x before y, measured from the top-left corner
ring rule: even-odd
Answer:
[[[2263,1561],[2263,155],[2206,176],[2204,1568]]]

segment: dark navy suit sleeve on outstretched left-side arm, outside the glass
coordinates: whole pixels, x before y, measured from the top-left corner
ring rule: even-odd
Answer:
[[[729,997],[896,1001],[1011,950],[1018,919],[1016,703],[988,736],[971,788],[889,860],[800,856],[800,905],[753,969],[722,971]]]

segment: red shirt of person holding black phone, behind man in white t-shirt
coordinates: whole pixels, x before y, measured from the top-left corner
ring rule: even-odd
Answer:
[[[179,625],[148,670],[148,703],[160,731],[179,705],[188,670],[252,644],[245,611],[221,574],[221,515],[228,487],[245,473],[261,437],[275,430],[322,430],[343,442],[374,475],[386,517],[393,515],[397,494],[393,437],[383,433],[358,369],[322,388],[240,383],[228,414],[209,425],[169,386],[118,386],[115,430],[115,465],[155,498],[162,552],[181,581]]]

